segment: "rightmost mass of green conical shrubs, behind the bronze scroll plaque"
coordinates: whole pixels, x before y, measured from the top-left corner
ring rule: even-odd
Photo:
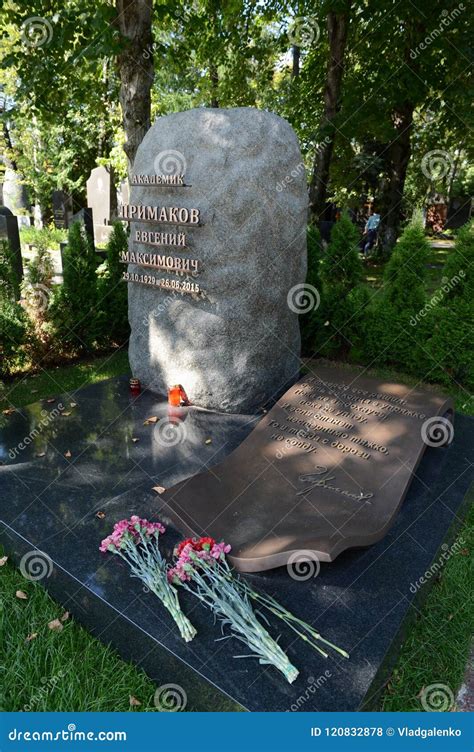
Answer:
[[[395,365],[425,381],[472,388],[474,336],[472,225],[458,235],[431,297],[424,288],[429,247],[419,222],[404,231],[386,267],[385,285],[367,310],[361,360]]]

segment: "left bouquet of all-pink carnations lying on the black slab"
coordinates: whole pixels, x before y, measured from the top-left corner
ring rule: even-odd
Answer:
[[[158,547],[159,536],[164,532],[161,522],[149,522],[133,515],[114,525],[113,532],[102,541],[100,550],[117,554],[128,564],[131,576],[138,577],[160,599],[183,639],[189,642],[196,630],[181,611],[177,590],[167,577],[168,566]]]

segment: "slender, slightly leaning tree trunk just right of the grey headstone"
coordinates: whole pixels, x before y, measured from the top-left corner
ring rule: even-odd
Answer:
[[[329,167],[336,135],[334,118],[341,105],[344,53],[349,28],[350,8],[351,3],[348,2],[344,13],[330,11],[327,18],[329,61],[324,88],[324,115],[320,131],[324,138],[322,145],[316,152],[309,188],[310,214],[313,222],[317,222],[320,219],[326,207]]]

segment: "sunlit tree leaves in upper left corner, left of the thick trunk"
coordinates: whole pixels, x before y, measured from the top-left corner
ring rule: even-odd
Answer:
[[[114,5],[102,0],[8,2],[0,9],[8,133],[2,146],[29,200],[48,218],[57,188],[84,205],[89,172],[114,143],[120,117],[115,15]],[[41,33],[39,44],[25,43],[23,29],[35,17],[44,43]]]

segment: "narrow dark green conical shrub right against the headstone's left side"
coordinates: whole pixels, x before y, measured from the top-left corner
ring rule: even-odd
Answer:
[[[127,285],[122,280],[124,265],[120,263],[120,254],[127,248],[127,232],[121,222],[115,222],[107,243],[105,269],[98,282],[97,327],[104,345],[123,344],[130,334]]]

